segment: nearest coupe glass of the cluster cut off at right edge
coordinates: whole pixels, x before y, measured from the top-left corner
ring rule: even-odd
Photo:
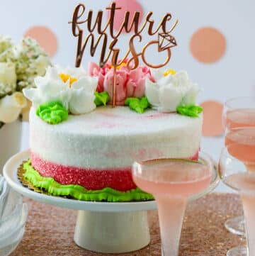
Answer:
[[[242,154],[240,148],[244,150]],[[220,178],[227,186],[239,191],[242,199],[248,241],[247,247],[234,247],[227,252],[227,256],[255,255],[255,172],[249,172],[249,167],[255,165],[255,155],[252,157],[249,154],[250,149],[251,145],[232,143],[222,150],[220,156]],[[249,156],[245,156],[245,152]]]

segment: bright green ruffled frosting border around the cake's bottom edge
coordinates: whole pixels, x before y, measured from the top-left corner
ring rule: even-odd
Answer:
[[[44,189],[52,196],[70,196],[81,201],[107,201],[107,202],[127,202],[127,201],[149,201],[154,200],[151,194],[147,194],[141,189],[130,191],[118,191],[111,188],[101,190],[87,190],[79,185],[62,185],[50,177],[42,177],[31,165],[30,160],[23,164],[26,181],[34,187]]]

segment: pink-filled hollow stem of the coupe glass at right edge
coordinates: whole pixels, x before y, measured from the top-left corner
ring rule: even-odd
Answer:
[[[254,194],[240,194],[244,208],[246,235],[248,243],[248,255],[255,255],[255,195]]]

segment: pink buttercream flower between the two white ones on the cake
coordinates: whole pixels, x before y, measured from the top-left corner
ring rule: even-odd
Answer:
[[[106,64],[100,68],[95,63],[89,63],[89,74],[98,77],[98,87],[96,91],[107,91],[111,97],[109,104],[113,103],[113,68],[111,64]],[[116,101],[115,104],[123,106],[125,99],[129,97],[141,98],[145,96],[145,79],[154,82],[149,67],[137,67],[130,70],[125,65],[116,70]]]

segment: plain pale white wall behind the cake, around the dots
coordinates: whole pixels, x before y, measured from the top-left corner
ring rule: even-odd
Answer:
[[[72,18],[76,4],[83,2],[88,9],[104,9],[110,0],[0,0],[0,33],[11,35],[18,42],[32,26],[47,26],[58,40],[57,54],[53,62],[74,65],[76,40],[67,24]],[[144,12],[154,11],[154,19],[159,21],[166,11],[179,19],[174,30],[178,47],[173,49],[169,66],[186,69],[193,81],[198,82],[203,92],[199,101],[216,100],[224,102],[234,96],[255,96],[255,2],[253,0],[139,0]],[[205,65],[191,55],[189,43],[193,33],[204,26],[220,30],[227,40],[225,56],[216,63]],[[124,40],[120,48],[126,49]],[[145,38],[146,40],[146,38]],[[158,58],[158,55],[154,55]],[[84,64],[90,60],[85,55]],[[98,57],[94,59],[96,62]],[[213,120],[212,120],[213,126]],[[202,148],[215,160],[220,154],[223,137],[203,138]],[[23,148],[28,147],[28,126],[24,125]]]

